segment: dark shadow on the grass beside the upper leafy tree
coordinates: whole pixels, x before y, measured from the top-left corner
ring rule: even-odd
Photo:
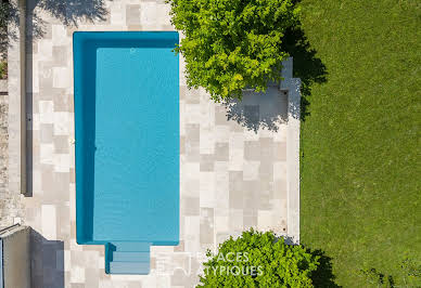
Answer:
[[[293,76],[302,80],[301,119],[304,121],[310,114],[311,86],[327,82],[327,67],[317,57],[317,51],[311,48],[299,24],[286,30],[282,48],[294,58]]]

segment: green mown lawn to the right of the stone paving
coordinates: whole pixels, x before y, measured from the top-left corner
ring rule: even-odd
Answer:
[[[332,258],[337,285],[368,287],[360,269],[404,285],[400,262],[421,260],[421,2],[299,4],[314,49],[294,65],[308,103],[302,241]]]

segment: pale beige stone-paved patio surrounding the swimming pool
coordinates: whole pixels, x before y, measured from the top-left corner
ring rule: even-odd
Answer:
[[[289,78],[292,67],[284,82],[289,95],[272,86],[266,94],[246,92],[242,103],[215,104],[203,90],[189,90],[181,76],[180,245],[152,247],[148,276],[105,275],[103,246],[75,240],[72,35],[173,30],[169,6],[161,0],[105,1],[84,14],[71,4],[62,13],[27,2],[28,19],[43,21],[43,34],[41,26],[29,27],[26,51],[31,160],[23,221],[35,230],[34,287],[192,287],[205,250],[215,250],[230,235],[253,226],[298,240],[299,120],[294,105],[299,95],[291,88],[299,82]],[[183,75],[182,61],[180,69]]]

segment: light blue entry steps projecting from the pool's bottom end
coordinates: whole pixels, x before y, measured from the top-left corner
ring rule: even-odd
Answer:
[[[105,271],[109,274],[150,272],[151,243],[113,241],[105,245]]]

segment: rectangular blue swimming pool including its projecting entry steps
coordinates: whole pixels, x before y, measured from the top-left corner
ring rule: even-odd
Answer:
[[[75,32],[76,238],[105,271],[148,274],[179,241],[178,34]]]

